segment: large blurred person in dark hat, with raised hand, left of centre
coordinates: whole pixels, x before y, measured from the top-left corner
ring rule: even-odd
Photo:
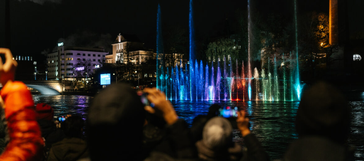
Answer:
[[[156,88],[145,88],[144,92],[153,107],[144,106],[126,84],[111,84],[95,96],[86,124],[91,161],[174,160],[193,156],[185,121],[178,119],[166,96]],[[146,112],[159,115],[166,122],[165,137],[147,154],[142,148]]]

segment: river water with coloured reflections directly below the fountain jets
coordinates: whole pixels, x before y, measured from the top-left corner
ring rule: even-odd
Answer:
[[[280,158],[290,142],[297,138],[294,128],[299,102],[279,101],[172,101],[177,114],[191,124],[197,115],[205,115],[209,106],[237,106],[246,110],[250,118],[251,130],[261,140],[272,159]],[[233,131],[233,139],[243,145],[240,132]]]

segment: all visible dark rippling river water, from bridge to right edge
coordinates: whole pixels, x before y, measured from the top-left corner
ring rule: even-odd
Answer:
[[[50,104],[55,111],[55,117],[67,114],[87,116],[87,107],[92,99],[90,96],[70,95],[33,95],[35,103]],[[268,152],[272,160],[281,158],[289,143],[297,139],[294,127],[299,102],[271,101],[172,101],[179,118],[191,124],[197,115],[205,115],[211,104],[220,106],[237,106],[246,110],[251,124],[251,130]],[[352,107],[352,123],[348,144],[356,148],[355,159],[364,160],[364,102],[349,102]],[[233,131],[234,141],[244,145],[240,132]]]

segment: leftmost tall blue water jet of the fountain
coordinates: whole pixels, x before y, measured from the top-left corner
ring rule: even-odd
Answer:
[[[160,73],[160,70],[159,70],[159,54],[161,53],[162,51],[162,28],[161,28],[161,5],[158,4],[158,9],[157,9],[157,71],[156,71],[156,86],[158,89],[161,89],[161,86],[160,86],[160,82],[158,81],[159,79],[159,73]]]

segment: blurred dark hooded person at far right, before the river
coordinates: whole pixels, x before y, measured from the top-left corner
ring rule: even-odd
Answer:
[[[316,83],[302,95],[296,116],[298,139],[284,160],[353,160],[345,145],[349,133],[350,108],[344,96],[324,82]]]

